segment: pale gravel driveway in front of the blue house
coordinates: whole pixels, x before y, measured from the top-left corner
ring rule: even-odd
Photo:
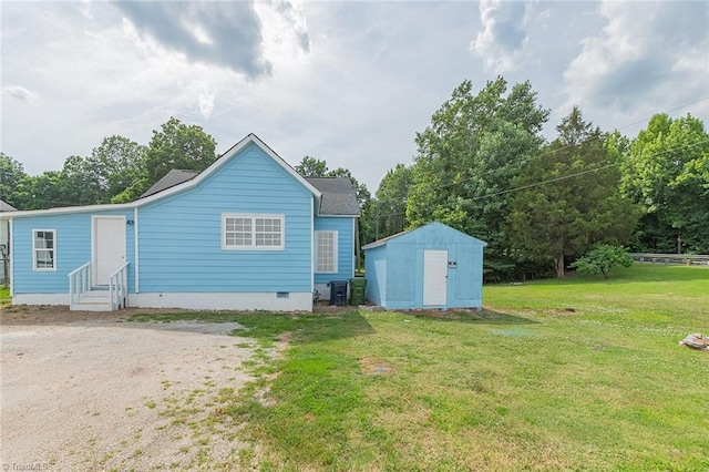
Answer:
[[[2,314],[3,470],[238,464],[238,424],[219,409],[224,394],[250,380],[243,362],[254,341],[227,336],[236,324],[125,316],[61,308]],[[215,414],[219,421],[209,421]]]

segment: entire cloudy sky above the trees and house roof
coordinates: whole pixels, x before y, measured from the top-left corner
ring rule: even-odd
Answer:
[[[530,80],[635,136],[655,113],[709,125],[709,2],[0,2],[0,150],[29,174],[169,116],[226,151],[256,133],[372,191],[463,80]]]

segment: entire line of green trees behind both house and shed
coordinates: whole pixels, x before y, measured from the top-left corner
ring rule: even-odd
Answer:
[[[432,220],[487,243],[486,280],[564,276],[594,247],[709,253],[709,134],[687,114],[653,116],[634,138],[604,132],[574,107],[547,141],[549,111],[530,82],[464,81],[415,135],[417,155],[371,195],[346,168],[305,156],[305,176],[351,179],[359,243]],[[147,145],[111,136],[59,172],[30,176],[0,154],[0,198],[20,209],[124,203],[172,168],[202,171],[215,140],[171,117]]]

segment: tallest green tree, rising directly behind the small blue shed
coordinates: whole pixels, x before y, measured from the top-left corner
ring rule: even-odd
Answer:
[[[484,239],[485,277],[511,277],[508,191],[544,142],[547,117],[530,82],[507,93],[507,82],[497,78],[474,93],[464,81],[417,134],[407,201],[410,227],[439,220]]]

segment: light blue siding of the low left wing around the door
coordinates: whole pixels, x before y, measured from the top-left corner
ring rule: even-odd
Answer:
[[[69,273],[91,261],[91,217],[94,215],[133,218],[132,209],[82,212],[14,218],[12,223],[12,288],[14,294],[68,294]],[[35,271],[32,268],[32,230],[54,229],[56,270]],[[125,227],[129,290],[135,290],[135,234]]]

